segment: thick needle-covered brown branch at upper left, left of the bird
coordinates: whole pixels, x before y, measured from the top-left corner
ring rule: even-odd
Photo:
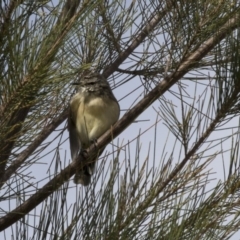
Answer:
[[[68,0],[65,3],[63,7],[63,13],[60,15],[61,20],[58,22],[59,26],[55,26],[52,32],[49,34],[49,36],[54,35],[55,40],[57,40],[53,42],[53,45],[47,51],[47,54],[45,51],[40,52],[39,56],[44,54],[44,58],[33,68],[31,72],[28,73],[28,76],[23,79],[22,83],[15,91],[15,94],[13,94],[10,100],[5,103],[5,106],[1,106],[1,113],[3,115],[2,118],[7,119],[5,126],[7,133],[5,134],[5,141],[0,144],[0,176],[2,176],[5,172],[7,160],[10,156],[15,141],[19,138],[22,124],[25,121],[28,112],[36,98],[37,92],[41,88],[41,83],[39,83],[40,81],[38,81],[38,87],[35,86],[34,77],[36,77],[36,72],[41,71],[42,69],[46,69],[46,66],[50,65],[49,63],[57,53],[57,50],[60,47],[63,38],[67,35],[73,26],[72,18],[79,4],[80,0]],[[42,43],[43,49],[46,45],[45,43],[47,40],[49,39],[45,39],[45,41]],[[32,85],[34,85],[34,87],[31,88]],[[28,91],[30,88],[32,91]],[[25,93],[26,89],[26,92],[28,92],[28,94]],[[25,98],[22,96],[23,93],[27,95]],[[9,113],[10,109],[14,109],[14,111],[12,113]],[[7,117],[4,117],[4,114],[7,115]]]

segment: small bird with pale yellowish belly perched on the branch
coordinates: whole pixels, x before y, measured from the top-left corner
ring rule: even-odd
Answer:
[[[119,114],[120,107],[108,81],[98,73],[83,76],[79,81],[78,93],[70,101],[68,130],[72,159],[109,130],[117,122]],[[100,150],[99,155],[103,150]],[[76,184],[90,184],[96,161],[76,172]]]

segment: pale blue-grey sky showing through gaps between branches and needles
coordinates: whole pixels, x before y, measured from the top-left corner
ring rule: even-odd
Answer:
[[[159,40],[164,42],[164,39],[159,38]],[[122,67],[126,67],[126,66],[127,65],[125,64]],[[213,76],[214,73],[206,71],[206,74],[209,76]],[[197,79],[198,74],[195,73],[194,75],[194,73],[192,73],[191,77],[192,78],[196,77]],[[116,84],[117,84],[117,81],[119,80],[121,79],[120,78],[116,79]],[[203,84],[197,84],[197,88],[196,88],[196,84],[193,81],[187,81],[187,80],[182,81],[182,83],[186,85],[186,93],[184,93],[186,96],[185,97],[186,104],[191,105],[192,102],[194,102],[194,106],[198,106],[199,104],[198,100],[202,101],[203,95],[205,94],[206,86]],[[124,96],[126,96],[128,93],[136,89],[137,86],[141,86],[141,85],[142,85],[141,80],[136,77],[134,79],[129,80],[129,82],[127,82],[126,84],[113,90],[116,98],[119,100],[119,104],[121,108],[120,118],[126,113],[127,109],[129,109],[130,106],[135,104],[136,99],[141,99],[144,96],[143,88],[139,88],[137,91],[134,91],[134,93],[124,98]],[[196,93],[195,93],[195,89],[196,89]],[[171,91],[168,91],[164,94],[164,98],[168,99],[169,101],[172,101],[172,104],[174,105],[174,109],[176,111],[176,115],[179,116],[179,119],[181,119],[181,104],[177,96],[174,94],[178,91],[179,91],[179,88],[177,85],[175,85],[173,86],[173,88],[171,88]],[[194,99],[194,93],[195,93],[196,99]],[[210,92],[207,93],[206,96],[209,96],[209,94]],[[106,154],[107,152],[112,152],[113,149],[116,150],[117,145],[124,146],[124,145],[128,145],[128,143],[130,142],[130,148],[131,148],[130,153],[128,151],[126,152],[125,151],[126,149],[124,149],[124,147],[123,147],[123,150],[120,151],[119,166],[122,166],[120,175],[124,176],[124,166],[128,161],[128,159],[130,159],[130,161],[133,161],[134,163],[134,159],[136,159],[136,155],[137,155],[135,148],[138,145],[137,144],[138,142],[140,143],[139,145],[141,146],[139,166],[143,164],[146,158],[149,158],[149,166],[148,166],[149,169],[151,167],[154,167],[156,169],[157,167],[154,164],[157,164],[157,159],[159,159],[159,162],[160,162],[160,159],[162,158],[163,155],[166,156],[166,159],[171,157],[171,153],[173,151],[173,143],[175,143],[176,138],[173,136],[173,134],[170,133],[169,129],[166,126],[166,123],[164,122],[164,119],[162,119],[161,117],[161,112],[160,112],[161,104],[164,104],[163,98],[154,102],[146,111],[144,111],[135,120],[134,123],[132,123],[125,131],[123,131],[123,133],[121,133],[116,139],[114,139],[113,144],[108,145],[105,153],[103,153],[102,156],[104,156],[104,154]],[[206,109],[207,109],[207,104],[206,106],[204,106],[204,111],[206,111]],[[214,132],[209,139],[215,139],[215,138],[220,138],[224,135],[226,136],[229,135],[228,127],[229,128],[231,128],[232,126],[237,127],[238,120],[239,120],[238,118],[231,120],[227,125],[224,126],[226,128],[225,130]],[[158,121],[157,125],[155,124],[156,121]],[[61,124],[61,126],[59,126],[58,129],[63,129],[64,127],[66,127],[66,122]],[[51,135],[45,141],[45,142],[52,142],[52,143],[43,152],[40,153],[39,158],[41,158],[41,160],[36,162],[36,164],[34,164],[31,169],[26,170],[26,171],[31,171],[31,176],[34,176],[38,180],[46,177],[43,181],[39,183],[38,187],[43,186],[48,181],[49,179],[48,175],[53,174],[54,169],[56,167],[56,161],[57,161],[55,157],[56,152],[51,152],[51,150],[54,146],[57,146],[59,142],[60,137],[53,141],[57,133],[58,133],[57,131],[54,132],[53,135]],[[142,133],[140,138],[138,138],[139,133]],[[64,132],[64,134],[61,137],[62,137],[60,141],[61,145],[59,146],[61,164],[58,164],[58,171],[60,167],[63,168],[64,166],[67,166],[69,162],[71,162],[67,130]],[[194,141],[192,141],[192,144],[193,143]],[[230,138],[225,142],[223,142],[222,146],[224,147],[226,152],[224,152],[223,154],[219,154],[216,157],[216,159],[208,166],[208,169],[213,173],[213,175],[211,175],[211,178],[213,180],[211,180],[211,182],[207,185],[206,191],[213,189],[219,180],[224,180],[224,177],[225,177],[224,168],[228,169],[228,166],[229,166],[228,159],[230,155],[229,149],[231,148],[231,143],[232,143],[232,139]],[[201,149],[203,150],[207,144],[208,143],[206,143]],[[181,149],[180,143],[177,142],[174,148],[174,152],[173,152],[174,154],[172,156],[173,166],[183,158],[183,152],[181,152],[180,149]],[[208,156],[210,156],[211,154],[217,151],[220,151],[219,146],[216,146],[216,147],[213,146],[213,148],[211,148],[209,151],[205,153],[205,157],[207,158]],[[114,156],[116,156],[116,153]],[[156,161],[153,160],[154,157]],[[113,156],[110,154],[108,158],[106,158],[106,162],[107,162],[106,166],[112,165],[112,159],[113,159]],[[107,170],[105,169],[104,172],[106,171]],[[102,176],[104,176],[104,174]],[[102,188],[103,188],[102,181],[98,181],[94,188],[94,192],[97,193]],[[117,186],[116,186],[116,189],[117,189]],[[77,185],[77,186],[74,185],[71,178],[69,183],[69,190],[67,194],[68,206],[71,206],[71,204],[74,204],[74,202],[76,201],[76,199],[79,198],[79,196],[80,198],[83,198],[85,194],[86,194],[86,191],[84,187],[80,185]],[[10,202],[10,205],[8,202],[5,202],[5,203],[3,202],[3,204],[1,204],[1,208],[5,209],[6,211],[7,209],[10,210],[15,208],[15,206],[16,206],[15,199],[13,199]],[[41,209],[41,205],[37,208],[37,214],[40,214],[40,209]],[[70,219],[71,213],[72,213],[72,209],[69,212],[69,219]],[[7,229],[4,233],[0,233],[1,239],[2,237],[4,237],[4,235],[6,236],[6,239],[8,239],[8,237],[10,237],[11,235],[11,231],[12,231],[11,229]],[[32,231],[34,231],[34,229],[32,229]],[[237,233],[235,234],[235,236],[231,238],[231,240],[237,240],[239,239],[239,236],[240,236],[239,233]],[[13,239],[17,239],[17,236],[13,236]]]

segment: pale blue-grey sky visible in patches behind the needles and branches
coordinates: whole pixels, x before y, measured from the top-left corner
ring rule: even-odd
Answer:
[[[138,24],[138,22],[136,23]],[[159,36],[159,41],[164,42],[164,39],[161,38],[161,36]],[[141,47],[140,47],[141,48]],[[152,49],[154,51],[154,49]],[[123,65],[121,68],[126,67],[127,65]],[[206,74],[209,75],[213,75],[213,73],[210,72],[206,72]],[[194,77],[193,75],[191,77]],[[196,76],[197,78],[197,76]],[[118,80],[118,79],[117,79]],[[116,80],[116,84],[117,84],[117,80]],[[184,81],[184,83],[186,83],[187,85],[189,85],[189,87],[187,88],[187,92],[188,94],[193,98],[194,97],[194,90],[195,90],[195,83],[190,82],[190,81]],[[119,88],[114,90],[114,94],[116,96],[117,99],[122,99],[123,96],[125,96],[127,93],[130,93],[132,90],[134,90],[136,88],[136,86],[141,85],[141,82],[139,80],[138,77],[130,80],[127,84],[124,84],[123,86],[120,86]],[[197,93],[196,96],[201,96],[204,93],[204,86],[198,85],[197,87]],[[171,88],[172,91],[178,91],[178,87],[177,85],[175,85],[173,88]],[[74,89],[73,89],[74,91]],[[120,107],[122,109],[121,111],[121,116],[125,113],[125,110],[129,108],[129,106],[131,106],[131,104],[136,100],[136,98],[139,96],[139,94],[143,91],[143,89],[139,89],[138,91],[134,92],[133,94],[131,94],[130,96],[128,96],[127,98],[123,99],[122,101],[120,101]],[[209,96],[209,95],[207,95]],[[143,96],[140,97],[140,99]],[[164,97],[169,99],[169,101],[172,101],[173,104],[175,105],[175,110],[177,115],[179,115],[179,119],[181,118],[181,104],[180,101],[177,101],[177,98],[175,98],[173,96],[172,93],[167,92],[164,94]],[[190,98],[189,98],[190,99]],[[190,104],[191,102],[189,102]],[[137,136],[139,135],[139,131],[144,132],[145,130],[147,130],[149,127],[151,127],[156,119],[160,120],[157,124],[157,134],[156,134],[156,139],[157,139],[157,149],[156,149],[156,159],[161,158],[162,156],[162,152],[163,149],[165,148],[165,152],[167,153],[167,155],[170,157],[170,154],[172,152],[173,149],[173,143],[175,142],[175,137],[172,134],[169,134],[169,130],[167,129],[167,127],[163,124],[164,121],[161,120],[161,117],[159,115],[159,102],[156,101],[155,103],[153,103],[146,111],[144,111],[143,114],[141,114],[136,120],[136,122],[132,123],[131,126],[129,126],[122,134],[120,134],[115,140],[114,143],[117,144],[117,142],[121,143],[121,144],[127,144],[128,141],[132,141],[134,138],[137,138]],[[196,102],[196,106],[197,106],[197,102]],[[204,108],[205,109],[205,108]],[[142,121],[144,120],[144,121]],[[147,120],[147,121],[145,121]],[[238,126],[238,118],[233,119],[232,121],[230,121],[225,127],[229,127],[231,128],[232,126]],[[65,126],[65,122],[59,127],[59,129],[62,129]],[[194,126],[193,126],[194,127]],[[149,145],[151,144],[151,149],[150,149],[150,156],[149,156],[149,168],[151,167],[152,164],[152,159],[153,159],[153,142],[154,142],[154,131],[155,128],[151,128],[150,130],[148,130],[147,132],[145,132],[141,138],[140,138],[140,143],[141,143],[141,157],[140,157],[140,166],[141,166],[141,162],[143,162],[146,158],[146,156],[148,155],[149,152]],[[215,138],[221,138],[224,135],[229,135],[229,129],[226,130],[222,130],[222,131],[216,131],[214,132],[209,139],[215,139]],[[49,142],[50,139],[55,138],[56,133],[53,133],[52,136],[50,136],[46,142]],[[62,139],[62,142],[64,142],[67,138],[68,138],[68,132],[65,131],[64,133],[64,138]],[[167,140],[167,144],[165,145],[165,142]],[[222,147],[225,150],[229,150],[231,147],[231,139],[228,139],[227,141],[225,141],[222,145]],[[57,141],[54,141],[52,143],[52,145],[50,145],[45,151],[43,151],[40,156],[45,155],[47,152],[49,152],[49,150],[52,149],[53,146],[56,146]],[[203,147],[205,147],[207,144],[204,144]],[[131,158],[134,159],[135,158],[135,146],[136,146],[136,140],[133,141],[131,143]],[[173,166],[174,164],[177,163],[177,161],[180,159],[182,159],[179,152],[180,149],[180,144],[179,142],[176,144],[175,146],[175,151],[174,151],[174,155],[173,155]],[[204,148],[201,148],[201,150],[203,150]],[[211,150],[209,150],[208,152],[205,153],[205,155],[211,155],[217,151],[219,151],[219,146],[212,148]],[[68,140],[65,141],[59,148],[60,151],[60,157],[61,160],[63,161],[63,159],[66,156],[66,163],[62,162],[62,166],[64,166],[65,164],[67,164],[68,162],[71,161],[70,159],[70,151],[69,151],[69,142]],[[106,151],[112,151],[112,146],[111,144],[108,145],[108,147],[106,148]],[[53,159],[54,156],[54,152],[49,153],[47,156],[45,156],[44,158],[42,158],[38,164],[33,165],[33,167],[31,169],[28,169],[26,171],[31,171],[32,172],[32,176],[34,176],[36,179],[40,180],[43,179],[45,177],[48,176],[48,169],[50,167],[50,172],[53,173],[54,172],[54,165],[55,163],[52,164],[52,166],[50,166],[50,162]],[[103,154],[104,155],[104,154]],[[102,156],[103,156],[102,155]],[[219,180],[223,180],[224,179],[224,170],[223,170],[223,162],[222,162],[222,156],[224,156],[224,167],[225,169],[228,169],[229,166],[229,151],[226,151],[223,155],[219,155],[216,157],[216,159],[213,161],[212,164],[210,164],[208,166],[208,169],[211,170],[211,172],[213,172],[214,174],[211,176],[211,178],[213,179],[206,188],[207,190],[210,190],[212,188],[214,188],[214,186],[217,184],[217,182]],[[119,157],[120,162],[124,162],[125,161],[125,154],[124,152],[122,152],[120,154]],[[110,155],[107,159],[107,162],[109,162],[109,164],[111,164],[112,161],[112,155]],[[157,161],[156,163],[157,164]],[[122,171],[123,174],[123,171]],[[41,183],[39,183],[39,187],[43,186],[48,179],[43,180]],[[35,182],[35,180],[33,180],[33,182]],[[102,188],[101,186],[101,181],[98,182],[96,188],[95,188],[95,193],[97,193],[100,189]],[[73,184],[72,182],[72,178],[70,180],[70,189],[67,195],[68,198],[68,206],[70,206],[71,204],[74,204],[74,202],[76,201],[76,193],[78,193],[78,191],[84,195],[85,190],[84,187],[82,187],[81,185],[75,186],[75,184]],[[3,202],[1,204],[1,208],[5,209],[6,211],[9,209],[13,209],[16,206],[16,201],[12,200],[11,201],[11,206],[9,207],[8,202]],[[40,209],[41,209],[41,205],[37,207],[37,213],[40,214]],[[69,219],[71,218],[71,210],[69,212]],[[31,212],[30,214],[33,214],[34,212]],[[11,235],[11,229],[7,229],[5,231],[5,236],[9,236]],[[0,237],[4,236],[4,233],[0,233]],[[1,239],[2,239],[1,237]],[[234,237],[231,238],[231,240],[237,240],[240,238],[239,234],[235,234]],[[17,239],[17,236],[13,236],[13,239]]]

